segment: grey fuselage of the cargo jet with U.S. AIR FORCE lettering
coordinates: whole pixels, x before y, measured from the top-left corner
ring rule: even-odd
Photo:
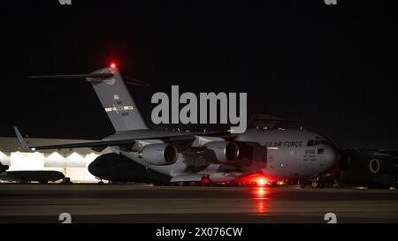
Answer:
[[[159,136],[178,136],[186,133],[136,130],[115,133],[105,138],[105,140],[142,139],[145,144],[149,144],[158,140],[145,140],[145,137],[153,137],[157,134]],[[233,180],[259,170],[265,176],[275,179],[301,179],[317,176],[332,169],[337,162],[337,152],[332,144],[318,133],[307,130],[249,129],[236,135],[234,140],[259,144],[260,149],[264,149],[259,154],[264,156],[255,155],[255,160],[252,160],[249,167],[233,171],[233,175],[231,175],[231,169],[224,170],[227,166],[226,164],[207,162],[183,152],[179,154],[178,160],[171,165],[157,166],[143,161],[137,152],[125,151],[119,147],[111,147],[111,150],[170,177],[210,173],[212,180],[215,182]],[[195,168],[196,170],[199,169],[199,171],[194,173],[192,169]]]

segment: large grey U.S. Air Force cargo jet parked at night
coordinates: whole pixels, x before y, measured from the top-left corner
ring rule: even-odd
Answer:
[[[115,133],[99,141],[29,147],[14,127],[22,150],[91,147],[101,151],[111,147],[113,155],[122,155],[120,162],[115,156],[100,156],[88,167],[100,179],[131,181],[134,167],[139,166],[179,184],[200,182],[203,177],[214,183],[233,183],[256,174],[277,181],[317,177],[337,162],[330,141],[307,130],[254,128],[240,134],[151,130],[114,64],[89,74],[31,78],[86,79],[94,87]]]

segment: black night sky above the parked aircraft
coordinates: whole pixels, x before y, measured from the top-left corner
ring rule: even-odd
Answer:
[[[13,136],[14,124],[30,137],[111,134],[86,81],[25,77],[115,60],[150,83],[130,87],[148,122],[152,94],[175,84],[196,94],[247,92],[249,117],[307,120],[338,147],[398,149],[396,1],[9,2],[1,8],[0,136]]]

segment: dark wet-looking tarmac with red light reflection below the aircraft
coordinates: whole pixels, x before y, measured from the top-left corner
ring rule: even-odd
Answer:
[[[0,185],[0,222],[398,222],[398,191],[151,185]]]

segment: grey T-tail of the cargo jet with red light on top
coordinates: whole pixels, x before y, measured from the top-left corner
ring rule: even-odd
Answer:
[[[93,85],[116,132],[148,129],[116,66],[103,68],[89,74],[46,75],[29,78],[86,79]],[[138,85],[140,84],[138,83]]]

